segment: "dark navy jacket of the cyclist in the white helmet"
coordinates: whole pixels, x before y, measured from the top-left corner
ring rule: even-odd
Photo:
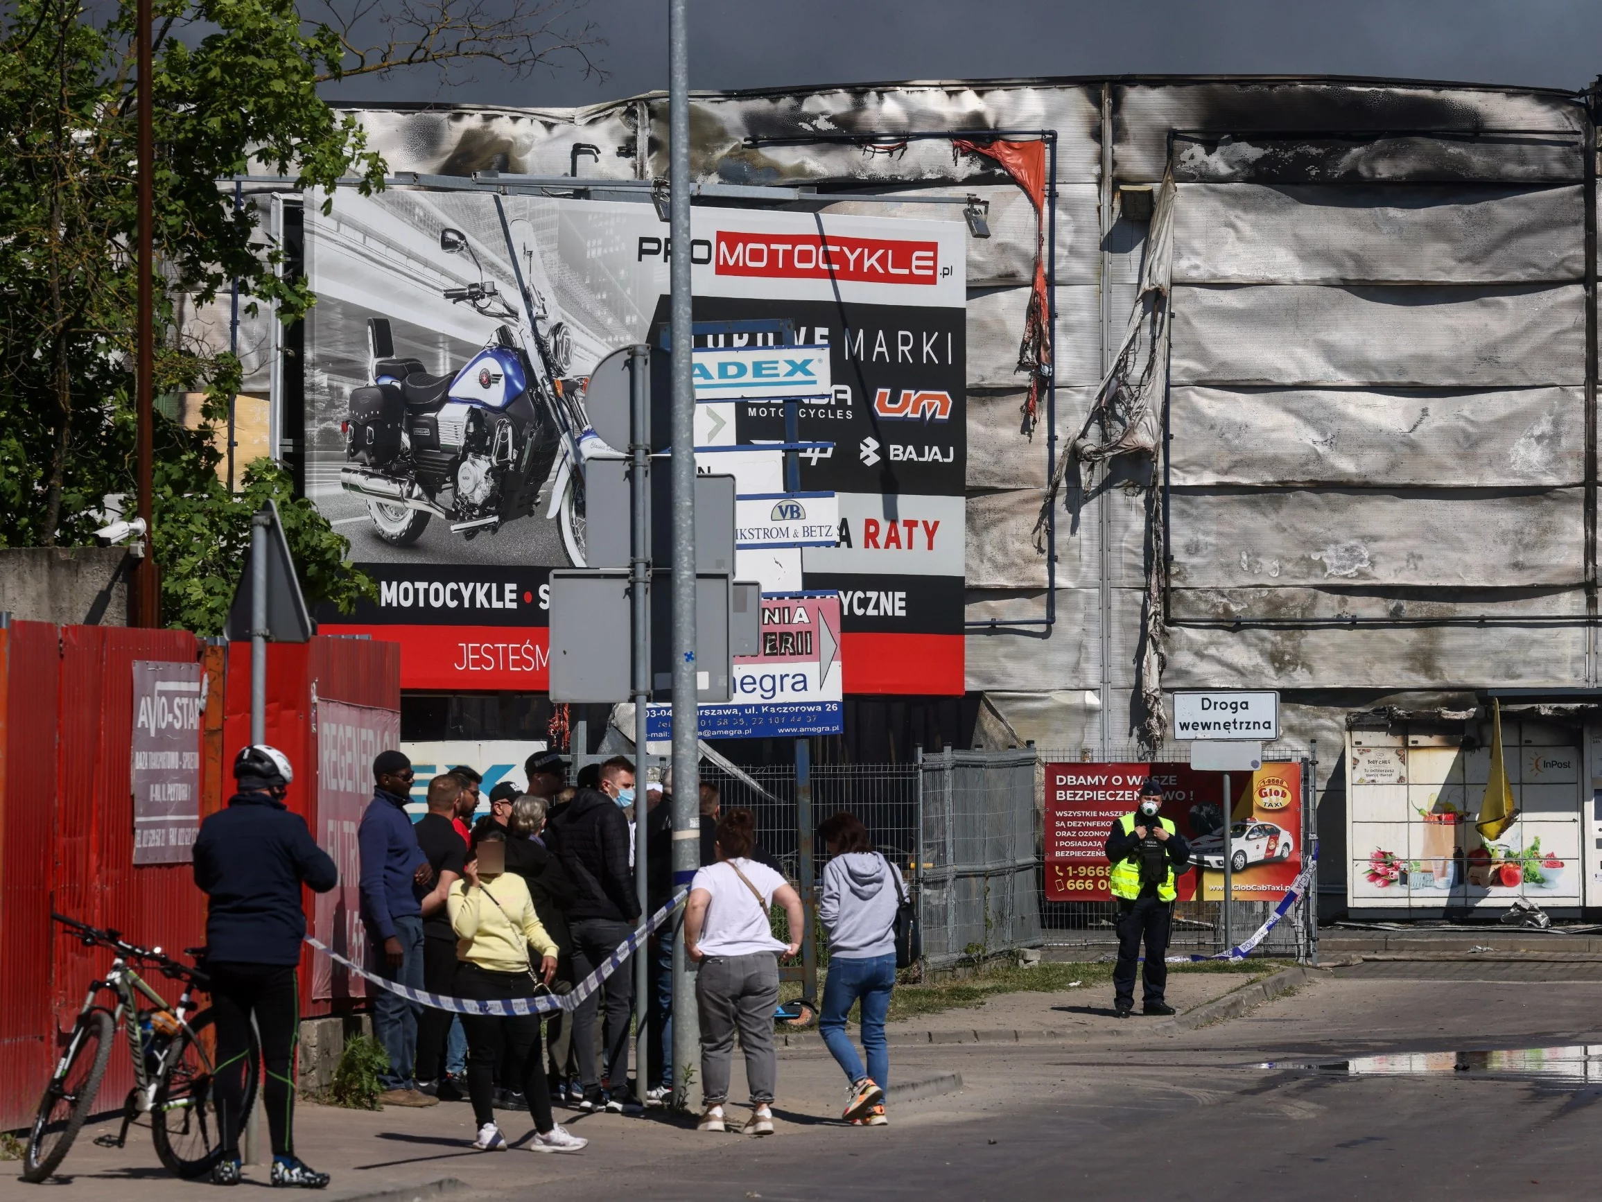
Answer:
[[[200,824],[195,885],[210,896],[207,954],[223,963],[298,965],[306,934],[301,883],[327,893],[340,870],[268,793],[235,793]]]

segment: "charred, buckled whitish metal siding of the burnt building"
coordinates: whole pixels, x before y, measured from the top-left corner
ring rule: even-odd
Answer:
[[[359,117],[396,170],[559,175],[582,139],[602,149],[586,173],[666,175],[657,95]],[[835,212],[891,216],[931,212],[849,191],[990,199],[995,236],[971,242],[968,263],[976,620],[1045,614],[1033,527],[1046,454],[1041,434],[1020,430],[1016,372],[1028,205],[945,141],[750,139],[998,128],[1057,136],[1064,439],[1089,412],[1145,250],[1147,226],[1123,215],[1118,189],[1169,168],[1179,183],[1169,458],[1155,476],[1145,460],[1113,462],[1080,487],[1070,471],[1057,495],[1056,628],[968,641],[969,688],[1020,739],[1128,737],[1153,567],[1147,498],[1165,484],[1176,490],[1165,688],[1301,691],[1286,697],[1291,740],[1338,745],[1344,712],[1392,691],[1596,680],[1597,200],[1584,96],[1357,79],[697,95],[702,179],[815,184]],[[1344,555],[1362,540],[1341,532],[1358,527],[1375,542]],[[1466,615],[1488,622],[1431,625]],[[1330,625],[1338,617],[1346,625]]]

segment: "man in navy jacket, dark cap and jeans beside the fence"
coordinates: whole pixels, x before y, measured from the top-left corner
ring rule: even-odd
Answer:
[[[376,787],[362,813],[356,843],[362,856],[362,925],[372,944],[372,968],[389,981],[423,989],[423,907],[412,883],[428,885],[433,872],[405,813],[412,777],[412,761],[402,752],[378,753],[373,760]],[[439,1103],[417,1088],[418,1016],[417,1003],[388,989],[375,990],[373,1034],[389,1053],[389,1071],[378,1074],[384,1087],[378,1101],[384,1106]]]

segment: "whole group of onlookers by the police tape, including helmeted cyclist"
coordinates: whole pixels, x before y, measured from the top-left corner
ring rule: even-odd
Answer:
[[[614,756],[578,772],[537,752],[524,764],[527,787],[497,784],[489,813],[482,776],[455,766],[428,780],[426,813],[413,821],[417,776],[399,750],[373,760],[373,800],[359,830],[360,917],[368,971],[412,990],[481,1002],[562,997],[607,963],[641,925],[634,886],[634,822],[644,830],[650,909],[673,894],[671,774],[636,793],[634,764]],[[301,885],[338,883],[333,861],[304,821],[285,808],[293,769],[271,747],[247,747],[234,764],[239,792],[210,816],[195,843],[195,883],[210,896],[208,971],[216,981],[219,1184],[240,1181],[239,1135],[244,1061],[252,1023],[266,1069],[263,1096],[272,1139],[272,1184],[322,1188],[328,1175],[293,1152],[293,1047],[296,966],[306,933]],[[636,800],[638,798],[638,800]],[[756,838],[750,811],[724,813],[714,785],[698,797],[700,870],[682,912],[684,952],[695,971],[700,1019],[702,1131],[726,1131],[735,1042],[745,1058],[751,1112],[740,1130],[774,1131],[774,1048],[779,962],[799,952],[801,897]],[[876,853],[863,824],[833,814],[819,829],[830,861],[819,920],[830,941],[820,1031],[847,1080],[843,1117],[888,1122],[889,1061],[884,1018],[896,984],[896,922],[905,883]],[[774,909],[790,941],[774,936]],[[556,1107],[583,1114],[641,1114],[674,1104],[673,942],[666,925],[641,949],[647,995],[634,997],[625,960],[578,1005],[540,1013],[457,1014],[388,989],[370,989],[373,1034],[384,1050],[384,1106],[473,1106],[482,1151],[508,1148],[497,1112],[527,1111],[524,1146],[578,1152],[586,1139],[556,1122]],[[867,1058],[846,1035],[860,1002]],[[647,1077],[630,1079],[636,1019],[647,1047]],[[543,1027],[543,1029],[541,1029]],[[642,1096],[641,1096],[642,1095]]]

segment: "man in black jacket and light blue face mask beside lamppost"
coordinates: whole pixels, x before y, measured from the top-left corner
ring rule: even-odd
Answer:
[[[634,870],[630,867],[631,832],[623,806],[634,801],[634,764],[615,755],[601,764],[598,789],[580,789],[572,803],[549,819],[553,849],[578,886],[567,909],[574,938],[574,976],[583,981],[617,950],[639,922]],[[596,1061],[594,1023],[606,998],[604,1063]],[[574,1011],[574,1043],[580,1111],[607,1109],[638,1114],[641,1106],[628,1090],[628,1027],[634,998],[633,957],[625,960],[601,990]],[[606,1090],[602,1090],[602,1074]]]

